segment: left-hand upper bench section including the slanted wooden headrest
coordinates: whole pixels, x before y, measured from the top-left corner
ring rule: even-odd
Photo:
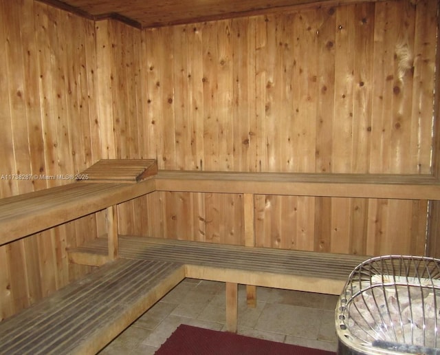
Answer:
[[[0,245],[151,193],[155,173],[155,160],[100,160],[82,179],[0,199]]]

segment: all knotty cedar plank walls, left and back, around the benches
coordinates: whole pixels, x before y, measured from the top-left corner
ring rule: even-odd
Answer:
[[[37,1],[0,4],[0,174],[79,172],[100,158],[157,158],[160,169],[431,172],[437,1],[146,30]],[[0,180],[0,193],[62,183]],[[426,201],[255,202],[259,246],[424,252]],[[87,272],[69,265],[65,248],[104,233],[103,221],[91,215],[0,246],[0,319]],[[243,244],[242,221],[241,195],[153,193],[120,208],[120,232],[137,235]]]

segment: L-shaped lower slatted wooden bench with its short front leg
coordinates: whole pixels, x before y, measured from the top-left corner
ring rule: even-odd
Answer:
[[[69,250],[96,261],[107,239]],[[119,255],[0,323],[0,354],[96,354],[185,277],[226,283],[226,322],[236,331],[237,284],[339,294],[365,257],[119,238]]]

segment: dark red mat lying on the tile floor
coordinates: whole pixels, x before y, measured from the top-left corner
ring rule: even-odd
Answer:
[[[181,324],[155,355],[334,355],[309,347],[266,341]]]

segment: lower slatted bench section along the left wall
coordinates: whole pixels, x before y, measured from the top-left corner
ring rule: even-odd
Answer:
[[[0,323],[0,354],[96,354],[184,279],[181,263],[117,259]]]

